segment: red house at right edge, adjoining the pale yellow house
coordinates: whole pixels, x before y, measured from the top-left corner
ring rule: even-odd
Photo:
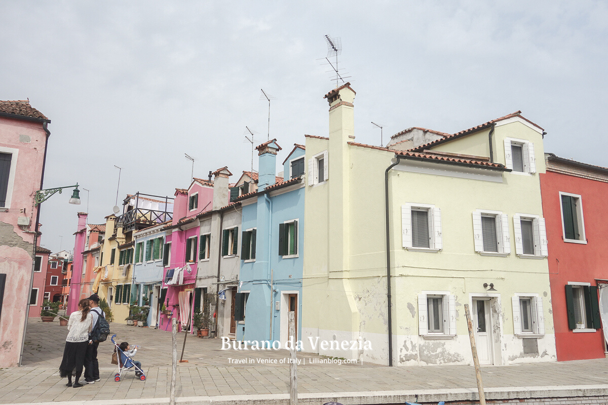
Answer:
[[[542,210],[558,361],[603,358],[608,352],[608,168],[553,154],[545,154],[545,160]]]

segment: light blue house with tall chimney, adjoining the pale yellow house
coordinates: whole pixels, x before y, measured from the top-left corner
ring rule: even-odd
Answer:
[[[237,341],[288,340],[288,312],[302,312],[305,150],[295,145],[275,178],[276,140],[258,146],[257,190],[235,199],[243,207],[240,288],[235,296]],[[240,185],[236,185],[237,187]]]

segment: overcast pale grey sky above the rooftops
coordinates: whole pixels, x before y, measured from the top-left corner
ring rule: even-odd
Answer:
[[[126,4],[125,4],[126,3]],[[4,1],[0,100],[52,120],[42,245],[74,248],[77,211],[103,223],[120,197],[173,196],[195,177],[250,168],[270,136],[283,162],[304,134],[327,135],[333,88],[323,35],[342,39],[357,141],[411,126],[454,133],[521,110],[545,151],[608,166],[608,7],[599,1]],[[257,162],[254,160],[254,168]],[[282,170],[277,165],[277,171]],[[61,238],[60,236],[63,236]]]

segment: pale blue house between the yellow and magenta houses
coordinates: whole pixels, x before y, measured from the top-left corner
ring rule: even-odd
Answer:
[[[150,305],[148,326],[156,327],[162,302],[167,292],[162,289],[164,265],[169,263],[171,253],[164,249],[165,231],[161,223],[133,233],[133,284],[131,297],[137,305]],[[147,303],[147,304],[146,304]]]

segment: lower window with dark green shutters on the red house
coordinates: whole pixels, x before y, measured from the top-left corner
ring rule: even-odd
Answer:
[[[566,285],[566,309],[568,328],[572,330],[601,328],[598,287],[595,285],[568,283]]]

